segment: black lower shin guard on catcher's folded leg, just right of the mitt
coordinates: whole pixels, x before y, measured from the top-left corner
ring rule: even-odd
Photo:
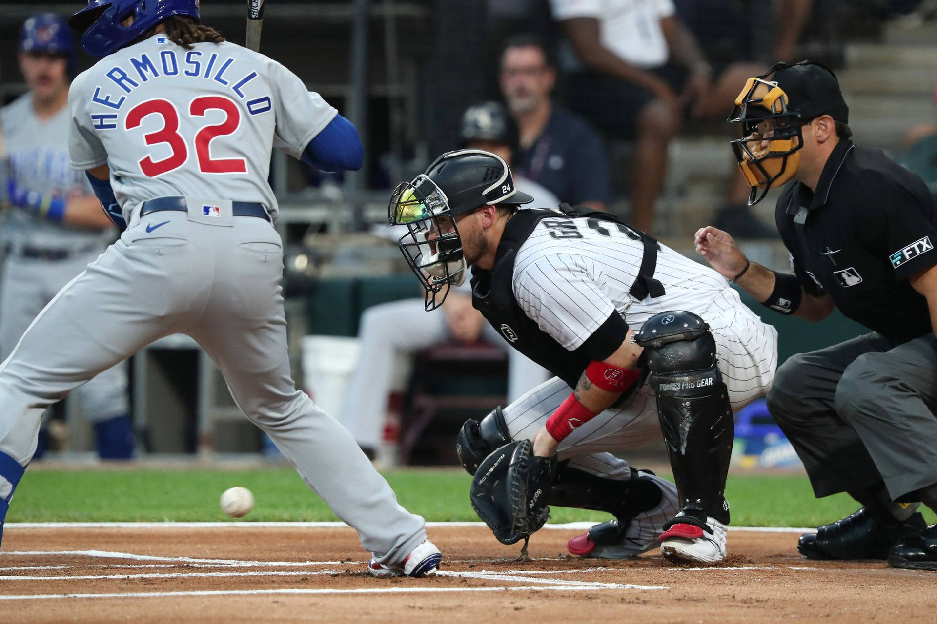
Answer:
[[[661,488],[633,468],[632,478],[620,481],[570,468],[564,461],[557,467],[546,501],[558,507],[591,509],[614,515],[614,520],[593,527],[589,535],[596,544],[618,544],[632,519],[657,507],[662,498]]]

